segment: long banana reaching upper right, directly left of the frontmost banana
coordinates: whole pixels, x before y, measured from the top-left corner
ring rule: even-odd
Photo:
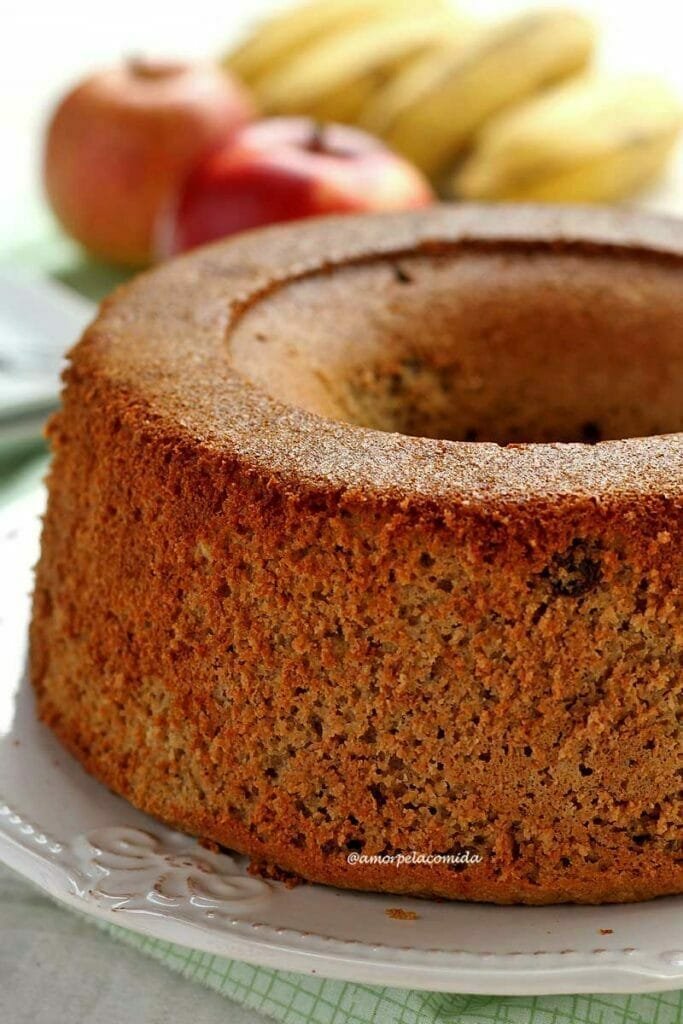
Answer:
[[[582,70],[593,44],[580,14],[519,15],[414,61],[375,97],[361,124],[437,175],[494,114]]]

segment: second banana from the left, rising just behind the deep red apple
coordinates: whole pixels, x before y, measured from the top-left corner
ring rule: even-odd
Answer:
[[[463,20],[446,12],[380,18],[347,29],[263,77],[257,97],[268,114],[354,122],[378,85],[417,54],[433,49],[444,37],[458,39],[462,32]]]

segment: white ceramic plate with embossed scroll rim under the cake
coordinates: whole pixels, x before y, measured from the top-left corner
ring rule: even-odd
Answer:
[[[90,778],[35,719],[25,678],[41,495],[0,516],[0,858],[63,903],[284,970],[449,992],[683,986],[683,899],[496,907],[287,889],[206,852]],[[417,914],[394,920],[400,907]]]

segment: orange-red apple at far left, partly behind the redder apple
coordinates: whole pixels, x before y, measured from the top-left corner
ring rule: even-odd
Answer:
[[[52,209],[98,256],[147,263],[160,210],[179,182],[253,116],[242,85],[212,65],[131,60],[93,75],[49,124]]]

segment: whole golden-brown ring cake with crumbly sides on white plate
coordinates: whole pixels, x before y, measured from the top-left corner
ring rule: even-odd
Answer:
[[[39,712],[259,869],[499,903],[683,891],[683,228],[323,218],[73,349]]]

